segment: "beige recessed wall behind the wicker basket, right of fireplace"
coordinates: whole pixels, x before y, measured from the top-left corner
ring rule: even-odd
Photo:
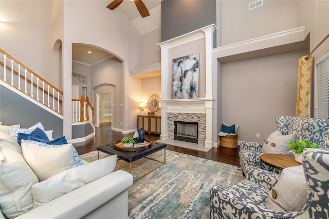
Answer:
[[[276,116],[295,115],[298,59],[305,54],[300,50],[222,64],[222,119],[239,125],[239,140],[262,142],[276,130]]]

